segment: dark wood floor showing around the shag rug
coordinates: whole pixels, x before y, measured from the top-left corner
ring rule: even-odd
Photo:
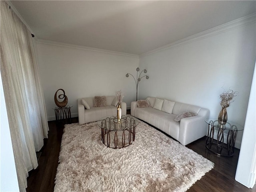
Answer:
[[[78,118],[72,118],[72,123],[75,122],[78,122]],[[55,121],[50,121],[48,124],[50,129],[48,139],[44,139],[38,168],[29,172],[27,192],[54,191],[54,179],[64,126],[56,126]],[[235,149],[233,157],[216,156],[205,148],[205,140],[206,138],[201,138],[186,147],[211,160],[215,166],[201,180],[198,180],[188,192],[256,192],[256,185],[249,189],[234,179],[239,150]]]

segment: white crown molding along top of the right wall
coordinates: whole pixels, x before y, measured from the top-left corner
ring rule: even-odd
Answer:
[[[140,57],[143,57],[143,56],[146,56],[146,55],[149,55],[149,54],[153,54],[153,53],[156,53],[156,52],[159,52],[159,51],[162,51],[162,50],[166,50],[166,49],[172,48],[174,46],[179,46],[179,45],[182,45],[182,44],[186,44],[186,43],[189,43],[189,42],[193,42],[193,41],[196,41],[196,40],[200,40],[200,39],[203,39],[203,38],[214,36],[216,34],[226,32],[228,30],[231,30],[231,29],[239,27],[239,26],[244,26],[244,25],[247,25],[247,24],[251,24],[253,22],[254,23],[256,22],[256,13],[250,14],[248,16],[244,16],[242,18],[239,18],[239,19],[233,20],[231,22],[222,24],[220,26],[211,28],[209,30],[200,32],[198,34],[186,37],[184,39],[181,39],[181,40],[178,40],[176,42],[173,42],[173,43],[167,44],[165,46],[162,46],[160,48],[156,48],[154,50],[151,50],[149,52],[141,54]]]

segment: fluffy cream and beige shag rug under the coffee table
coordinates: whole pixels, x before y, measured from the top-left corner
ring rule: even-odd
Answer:
[[[142,121],[130,146],[107,148],[96,122],[67,124],[54,192],[183,192],[214,163]]]

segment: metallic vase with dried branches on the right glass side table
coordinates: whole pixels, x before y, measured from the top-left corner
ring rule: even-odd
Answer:
[[[222,94],[220,94],[220,105],[222,109],[218,116],[219,124],[225,125],[228,121],[228,114],[226,108],[229,107],[232,102],[234,102],[234,98],[237,96],[237,94],[237,91],[233,91],[231,89],[224,91],[222,92]]]

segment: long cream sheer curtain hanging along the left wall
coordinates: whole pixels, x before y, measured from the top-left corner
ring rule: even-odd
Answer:
[[[44,96],[30,31],[1,1],[1,76],[20,191],[38,166],[36,151],[47,138]]]

